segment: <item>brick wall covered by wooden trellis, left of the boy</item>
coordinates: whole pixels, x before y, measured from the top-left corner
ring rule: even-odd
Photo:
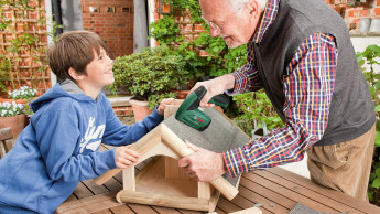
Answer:
[[[6,55],[12,61],[12,68],[8,68],[11,76],[3,81],[8,90],[26,85],[37,89],[37,94],[41,95],[52,87],[47,63],[42,60],[45,58],[47,47],[44,2],[29,0],[28,6],[35,7],[32,9],[18,4],[6,4],[2,8],[4,20],[11,21],[10,26],[0,31],[0,55]],[[17,47],[17,52],[10,51],[12,47],[15,49],[17,38],[28,34],[36,39],[32,47],[23,44],[20,49]],[[0,89],[0,95],[6,92]]]

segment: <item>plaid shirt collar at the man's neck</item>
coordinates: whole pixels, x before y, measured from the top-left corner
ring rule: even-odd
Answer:
[[[279,12],[280,0],[268,0],[261,22],[256,30],[251,42],[260,43],[265,35],[268,29],[274,22]]]

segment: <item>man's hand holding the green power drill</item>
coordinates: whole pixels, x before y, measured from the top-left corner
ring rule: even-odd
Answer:
[[[207,89],[207,93],[203,97],[199,103],[200,107],[209,108],[214,107],[214,104],[209,104],[208,101],[217,95],[222,94],[227,89],[232,89],[235,85],[235,78],[231,74],[227,74],[210,81],[198,82],[194,85],[194,87],[188,93],[192,94],[196,88],[204,86]]]

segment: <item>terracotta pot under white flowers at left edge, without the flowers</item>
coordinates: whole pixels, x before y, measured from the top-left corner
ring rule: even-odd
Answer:
[[[0,117],[0,128],[11,127],[11,132],[14,140],[18,139],[19,135],[26,125],[26,116],[24,114],[12,117]]]

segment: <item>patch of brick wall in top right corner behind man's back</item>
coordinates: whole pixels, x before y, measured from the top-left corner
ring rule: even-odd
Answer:
[[[380,19],[380,0],[367,0],[360,7],[347,7],[345,0],[324,0],[345,19],[350,30],[360,28],[361,18]]]

